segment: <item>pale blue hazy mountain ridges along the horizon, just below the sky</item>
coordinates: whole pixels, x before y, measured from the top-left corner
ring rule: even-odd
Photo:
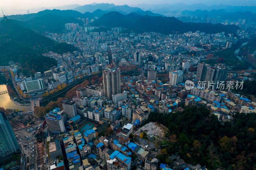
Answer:
[[[195,3],[198,1],[195,1]],[[79,5],[79,4],[72,4],[72,5],[64,5],[64,6],[58,6],[58,7],[41,7],[38,9],[28,9],[30,12],[30,15],[37,15],[38,16],[42,11],[41,15],[46,14],[46,10],[73,10],[78,11],[80,13],[85,12],[94,12],[96,10],[100,9],[101,11],[117,11],[121,14],[127,15],[131,12],[136,12],[140,15],[148,15],[148,16],[170,16],[171,13],[186,13],[186,11],[222,11],[222,13],[230,14],[235,12],[246,12],[249,11],[251,13],[256,13],[256,6],[232,6],[232,5],[226,5],[226,4],[219,4],[219,5],[211,5],[207,6],[205,4],[184,4],[184,3],[176,3],[176,4],[138,4],[138,5],[115,5],[115,4],[108,4],[108,3],[93,3],[88,5]],[[12,9],[12,11],[15,11],[15,13],[27,13],[27,10],[19,10],[19,9]],[[19,12],[20,11],[20,12]],[[21,12],[22,11],[22,12]],[[40,12],[39,12],[40,11]],[[5,15],[8,15],[11,11],[5,10]],[[48,12],[49,13],[49,12]],[[56,14],[56,13],[55,13]],[[243,13],[241,13],[243,14]],[[59,15],[59,14],[57,14]],[[218,14],[220,16],[220,14]],[[9,16],[8,16],[9,17]],[[17,19],[13,17],[13,15],[10,16],[11,19]],[[34,17],[32,17],[34,18]],[[31,17],[29,18],[31,19]]]

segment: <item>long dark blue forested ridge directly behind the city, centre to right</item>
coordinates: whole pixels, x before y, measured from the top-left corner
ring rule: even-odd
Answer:
[[[136,13],[135,13],[136,14]],[[98,20],[92,22],[94,26],[106,27],[124,27],[127,28],[125,32],[136,33],[143,32],[157,32],[157,33],[186,33],[189,31],[202,31],[205,33],[220,33],[225,32],[236,34],[238,26],[230,25],[224,26],[222,24],[206,24],[206,23],[184,23],[174,17],[161,16],[136,16],[134,13],[123,15],[119,12],[109,12],[104,14]]]

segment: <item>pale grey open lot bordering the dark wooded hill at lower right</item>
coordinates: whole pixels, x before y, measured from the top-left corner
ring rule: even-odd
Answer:
[[[153,136],[159,136],[159,137],[163,136],[163,130],[158,126],[156,126],[155,122],[150,122],[147,125],[140,127],[137,130],[136,135],[140,136],[140,133],[141,133],[140,130],[142,130],[142,132],[145,131],[147,134],[151,132]]]

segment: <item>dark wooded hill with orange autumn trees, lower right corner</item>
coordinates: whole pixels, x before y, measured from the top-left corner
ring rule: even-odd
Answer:
[[[191,106],[182,113],[150,113],[150,121],[170,130],[170,144],[161,147],[167,152],[157,155],[161,163],[170,163],[169,156],[178,153],[186,163],[207,169],[256,169],[256,114],[236,113],[232,122],[222,124],[204,106]]]

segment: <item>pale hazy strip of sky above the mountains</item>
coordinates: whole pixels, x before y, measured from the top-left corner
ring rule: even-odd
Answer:
[[[1,0],[0,7],[15,9],[31,9],[40,7],[54,7],[69,4],[92,4],[92,3],[113,3],[116,5],[136,5],[136,4],[174,4],[183,2],[185,4],[202,3],[206,5],[212,4],[230,4],[230,5],[256,5],[256,0]]]

